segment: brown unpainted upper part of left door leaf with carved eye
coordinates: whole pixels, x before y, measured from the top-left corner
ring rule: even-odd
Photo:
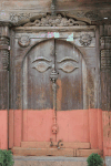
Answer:
[[[52,108],[52,87],[50,82],[53,59],[53,40],[34,46],[27,55],[23,70],[24,108]]]

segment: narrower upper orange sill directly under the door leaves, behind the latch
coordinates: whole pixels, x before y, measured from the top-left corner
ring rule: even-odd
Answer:
[[[53,147],[58,145],[58,142],[52,142]],[[50,148],[51,142],[21,142],[21,147],[27,148]],[[67,143],[60,142],[59,146],[62,148],[91,148],[90,143]]]

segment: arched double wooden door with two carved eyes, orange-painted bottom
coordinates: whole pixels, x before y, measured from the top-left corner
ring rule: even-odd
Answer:
[[[22,92],[23,110],[32,110],[27,141],[74,141],[73,120],[69,135],[64,129],[65,116],[83,108],[82,56],[73,44],[52,39],[32,48],[24,59]]]

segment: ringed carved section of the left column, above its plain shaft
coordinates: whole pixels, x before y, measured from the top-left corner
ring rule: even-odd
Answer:
[[[9,70],[10,40],[7,37],[0,38],[0,70]]]

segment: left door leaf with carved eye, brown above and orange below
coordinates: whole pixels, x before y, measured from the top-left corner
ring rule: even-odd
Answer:
[[[54,63],[53,48],[53,40],[41,42],[31,49],[23,62],[22,103],[23,110],[28,110],[28,115],[23,115],[23,141],[56,139],[51,133],[53,92],[50,73]]]

